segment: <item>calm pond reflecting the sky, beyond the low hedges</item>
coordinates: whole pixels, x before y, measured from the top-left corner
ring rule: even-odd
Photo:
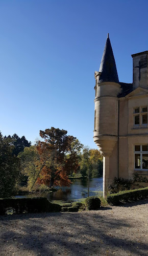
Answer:
[[[87,198],[88,196],[98,196],[102,194],[103,191],[103,177],[92,178],[89,181],[89,191],[88,191],[88,179],[76,179],[72,180],[70,187],[57,187],[58,190],[54,192],[41,193],[41,197],[47,197],[48,200],[78,200],[81,198]],[[37,194],[36,194],[37,195]],[[16,198],[22,197],[33,197],[34,194],[16,196]]]

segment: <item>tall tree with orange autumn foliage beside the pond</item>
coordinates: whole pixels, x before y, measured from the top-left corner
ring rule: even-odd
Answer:
[[[68,175],[71,169],[77,172],[78,153],[83,145],[76,137],[67,135],[67,131],[54,127],[40,131],[40,136],[43,141],[38,141],[37,151],[43,167],[36,183],[49,187],[69,186]]]

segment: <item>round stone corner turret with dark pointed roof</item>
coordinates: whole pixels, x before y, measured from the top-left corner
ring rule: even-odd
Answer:
[[[116,63],[109,39],[100,65],[100,70],[95,71],[95,114],[94,114],[94,142],[97,144],[104,158],[104,193],[107,186],[107,173],[109,173],[109,156],[118,139],[118,94],[120,84]]]

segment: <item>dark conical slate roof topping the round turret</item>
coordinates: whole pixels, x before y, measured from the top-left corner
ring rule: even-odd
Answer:
[[[99,72],[101,72],[102,74],[100,76],[98,83],[119,82],[113,50],[109,39],[109,34],[107,36]]]

